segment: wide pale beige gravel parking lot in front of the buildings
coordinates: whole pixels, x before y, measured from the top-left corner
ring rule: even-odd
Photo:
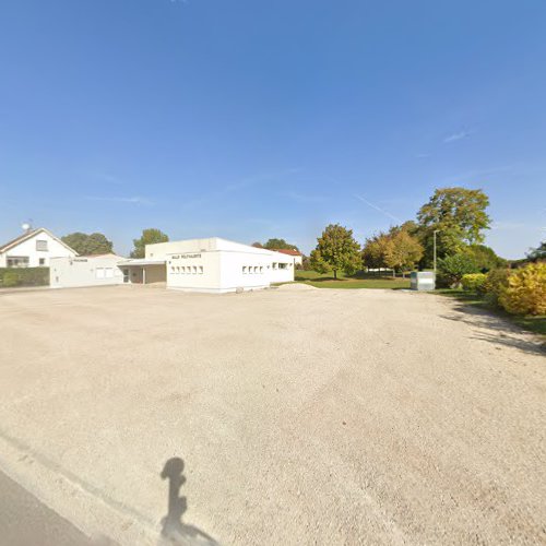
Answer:
[[[500,319],[145,286],[3,293],[0,317],[2,470],[87,536],[546,543],[546,359]]]

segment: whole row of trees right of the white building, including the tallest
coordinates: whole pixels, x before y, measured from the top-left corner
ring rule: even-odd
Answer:
[[[490,226],[486,212],[489,199],[483,190],[466,188],[437,189],[416,214],[416,219],[378,232],[363,246],[353,230],[339,224],[325,227],[310,256],[310,268],[319,273],[353,274],[360,269],[392,270],[404,273],[413,269],[439,266],[462,274],[488,271],[506,263],[483,245],[484,232]],[[436,234],[436,237],[435,237]]]

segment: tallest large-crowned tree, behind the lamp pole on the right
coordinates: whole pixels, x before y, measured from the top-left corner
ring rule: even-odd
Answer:
[[[435,191],[417,213],[418,235],[425,247],[425,263],[432,263],[434,232],[437,234],[437,256],[444,258],[460,252],[465,245],[484,240],[489,228],[486,213],[489,198],[482,190],[442,188]]]

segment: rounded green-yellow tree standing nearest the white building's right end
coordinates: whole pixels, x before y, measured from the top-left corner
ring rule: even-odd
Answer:
[[[337,278],[337,271],[352,274],[360,268],[360,245],[354,239],[352,229],[340,224],[330,224],[317,241],[317,248],[310,256],[314,271],[333,271],[334,278]]]

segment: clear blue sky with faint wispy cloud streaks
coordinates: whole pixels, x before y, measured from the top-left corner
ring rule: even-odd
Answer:
[[[3,0],[0,241],[23,221],[309,251],[483,188],[546,226],[546,2]]]

